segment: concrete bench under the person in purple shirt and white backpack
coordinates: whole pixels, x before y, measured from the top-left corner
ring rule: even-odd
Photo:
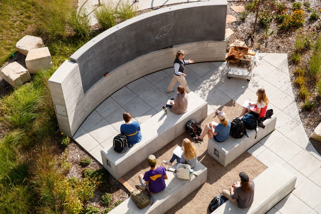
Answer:
[[[173,165],[171,168],[176,169],[176,166],[177,164]],[[168,175],[168,180],[165,180],[166,188],[157,194],[152,194],[154,198],[154,203],[152,206],[148,205],[144,209],[140,210],[137,208],[134,201],[131,198],[128,198],[109,213],[165,213],[179,201],[184,199],[188,194],[206,182],[207,168],[204,165],[197,161],[193,170],[197,177],[194,175],[190,180],[178,179],[176,174],[167,171],[166,173]],[[139,184],[138,179],[137,184]]]

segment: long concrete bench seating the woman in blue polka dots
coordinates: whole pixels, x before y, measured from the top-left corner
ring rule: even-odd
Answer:
[[[185,124],[188,120],[201,121],[206,116],[207,103],[194,92],[190,92],[188,94],[187,112],[177,115],[167,111],[167,115],[164,115],[164,112],[160,111],[152,116],[141,124],[142,141],[126,153],[115,152],[113,143],[109,142],[110,145],[100,151],[103,166],[118,180],[149,155],[157,152],[185,132]]]

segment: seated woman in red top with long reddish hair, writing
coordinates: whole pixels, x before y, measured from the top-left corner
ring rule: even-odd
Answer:
[[[267,104],[269,104],[269,99],[267,99],[264,88],[257,89],[256,96],[257,96],[256,103],[248,103],[249,105],[252,105],[252,106],[254,105],[254,109],[251,110],[250,108],[243,107],[243,110],[239,117],[243,116],[247,112],[258,118],[262,118],[265,116],[266,110],[267,110]]]

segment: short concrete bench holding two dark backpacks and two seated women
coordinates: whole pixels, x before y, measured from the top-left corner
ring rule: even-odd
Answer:
[[[215,160],[217,160],[221,165],[226,166],[247,149],[251,148],[254,144],[259,142],[262,138],[267,136],[275,129],[276,117],[267,119],[263,122],[265,129],[257,127],[257,136],[255,139],[255,130],[248,130],[247,135],[243,138],[235,139],[229,135],[229,137],[224,142],[217,142],[213,138],[208,140],[207,152]]]

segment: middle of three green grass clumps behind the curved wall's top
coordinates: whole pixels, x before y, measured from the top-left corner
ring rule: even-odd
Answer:
[[[102,5],[94,12],[102,30],[107,30],[116,25],[114,9],[111,6]]]

